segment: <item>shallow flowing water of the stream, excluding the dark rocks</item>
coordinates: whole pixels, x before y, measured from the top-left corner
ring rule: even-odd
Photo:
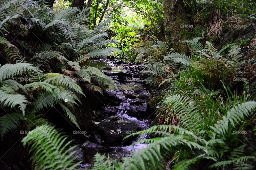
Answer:
[[[124,72],[124,73],[129,73],[129,71],[127,71],[127,69],[125,69],[124,67],[127,67],[123,64],[114,64],[113,62],[111,62],[110,60],[105,60],[105,62],[108,63],[109,66],[111,66],[112,70],[102,70],[103,72],[109,72],[109,73],[119,73],[119,72]],[[130,73],[131,74],[131,73]],[[126,80],[123,83],[118,82],[118,77],[115,76],[111,76],[111,78],[113,78],[116,82],[117,82],[117,86],[119,88],[118,89],[107,89],[106,91],[111,92],[116,94],[116,96],[119,99],[122,99],[122,102],[118,105],[118,106],[106,106],[106,108],[117,108],[117,113],[115,114],[115,117],[118,121],[129,121],[129,122],[134,122],[136,123],[142,130],[148,129],[150,124],[152,123],[152,120],[150,118],[148,118],[147,114],[145,114],[145,117],[143,116],[139,116],[137,117],[135,116],[131,116],[128,115],[127,112],[131,111],[131,109],[133,107],[135,107],[135,105],[133,105],[136,102],[141,102],[141,103],[146,103],[149,101],[149,99],[151,98],[150,93],[147,91],[147,89],[143,86],[143,84],[139,83],[139,81],[141,81],[142,79],[140,78],[129,78],[128,80]],[[124,91],[127,90],[129,93],[131,93],[132,95],[135,96],[135,98],[133,99],[127,99]],[[139,91],[138,93],[135,93],[134,91]],[[149,96],[148,99],[139,99],[138,96],[139,95],[147,95]],[[109,117],[108,117],[109,118]],[[105,119],[108,119],[105,118]],[[105,121],[100,120],[100,121]],[[109,121],[109,120],[107,120]],[[131,131],[131,133],[133,133],[133,131]],[[145,139],[147,137],[147,134],[144,134],[142,136],[142,139]],[[97,134],[95,134],[95,139],[96,139],[96,145],[94,145],[93,147],[86,147],[83,148],[84,151],[84,163],[81,165],[81,168],[83,169],[84,167],[90,167],[93,164],[93,156],[98,152],[101,154],[106,154],[109,156],[109,158],[111,160],[117,160],[120,161],[122,160],[123,157],[126,156],[132,156],[133,152],[136,152],[142,148],[145,148],[147,145],[146,144],[141,144],[141,143],[137,143],[138,138],[136,138],[133,142],[132,145],[128,145],[125,146],[123,144],[119,145],[119,146],[102,146],[100,144],[101,142],[101,138],[100,136],[98,136]]]

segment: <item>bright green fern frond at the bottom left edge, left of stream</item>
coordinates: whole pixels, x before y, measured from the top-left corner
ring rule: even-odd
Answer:
[[[67,137],[52,126],[35,128],[22,139],[22,143],[29,147],[35,169],[77,169],[81,163],[73,164],[75,146],[68,148],[71,141],[67,142]]]

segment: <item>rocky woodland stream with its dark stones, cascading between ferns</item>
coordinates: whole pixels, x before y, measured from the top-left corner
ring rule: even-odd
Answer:
[[[122,161],[123,157],[131,156],[146,147],[146,144],[135,144],[138,137],[124,137],[140,130],[148,129],[154,119],[149,112],[149,100],[154,97],[154,90],[149,89],[141,74],[142,65],[125,65],[117,60],[102,60],[110,67],[102,72],[114,79],[118,89],[107,89],[105,107],[93,117],[92,140],[78,144],[77,151],[81,169],[90,168],[94,155],[99,152],[109,155],[111,160]],[[143,135],[142,139],[147,137]]]

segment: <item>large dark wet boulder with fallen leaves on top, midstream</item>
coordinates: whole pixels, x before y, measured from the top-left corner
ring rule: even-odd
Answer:
[[[107,145],[130,144],[134,137],[123,138],[131,134],[131,131],[139,131],[141,128],[134,122],[129,121],[102,121],[95,125],[94,131],[101,138],[101,142]]]

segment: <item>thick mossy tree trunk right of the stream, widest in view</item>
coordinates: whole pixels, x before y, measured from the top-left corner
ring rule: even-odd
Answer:
[[[188,31],[190,28],[182,0],[163,0],[163,10],[166,22],[166,35],[170,38],[174,50],[178,53],[188,54],[185,36],[180,32]]]

